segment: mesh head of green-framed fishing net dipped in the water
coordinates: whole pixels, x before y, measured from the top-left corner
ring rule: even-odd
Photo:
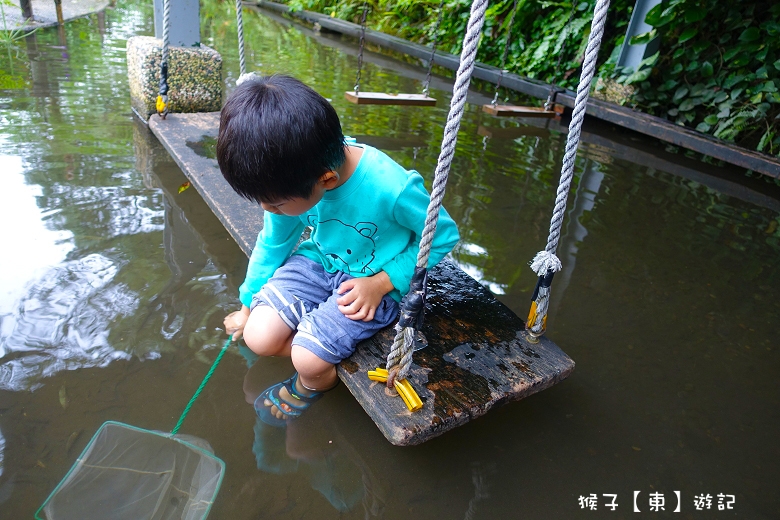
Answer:
[[[224,473],[206,441],[108,421],[35,518],[200,520]]]

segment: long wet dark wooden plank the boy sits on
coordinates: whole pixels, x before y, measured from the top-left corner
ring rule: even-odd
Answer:
[[[219,115],[152,116],[149,126],[201,193],[241,249],[249,255],[262,227],[262,210],[236,195],[207,152]],[[431,270],[423,333],[428,346],[414,354],[409,377],[424,402],[410,413],[388,398],[368,370],[384,366],[392,328],[364,341],[339,366],[339,377],[396,445],[420,444],[484,415],[488,410],[565,379],[574,362],[552,341],[532,344],[525,325],[504,304],[453,263]]]

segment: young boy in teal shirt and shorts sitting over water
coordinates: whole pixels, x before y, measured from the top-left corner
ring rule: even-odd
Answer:
[[[347,143],[330,103],[289,76],[233,91],[217,160],[230,186],[265,210],[242,308],[225,328],[258,355],[292,358],[297,372],[255,402],[263,420],[281,426],[336,385],[336,364],[359,341],[395,319],[430,197],[417,172]],[[306,227],[311,234],[293,253]],[[442,209],[429,267],[457,241]]]

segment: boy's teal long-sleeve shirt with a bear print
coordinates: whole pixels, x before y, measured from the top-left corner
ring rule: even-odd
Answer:
[[[296,217],[265,213],[239,289],[242,304],[250,306],[252,296],[290,257],[307,226],[312,227],[311,234],[295,254],[321,263],[330,273],[361,277],[384,271],[395,287],[390,296],[396,301],[409,291],[430,195],[419,173],[404,169],[376,148],[357,146],[363,147],[363,155],[352,176],[325,192],[308,212]],[[439,263],[458,239],[455,222],[442,207],[428,267]]]

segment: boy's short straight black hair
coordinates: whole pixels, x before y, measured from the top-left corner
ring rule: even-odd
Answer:
[[[324,97],[293,77],[265,76],[238,86],[222,108],[217,162],[249,200],[308,198],[324,173],[344,163],[345,144]]]

